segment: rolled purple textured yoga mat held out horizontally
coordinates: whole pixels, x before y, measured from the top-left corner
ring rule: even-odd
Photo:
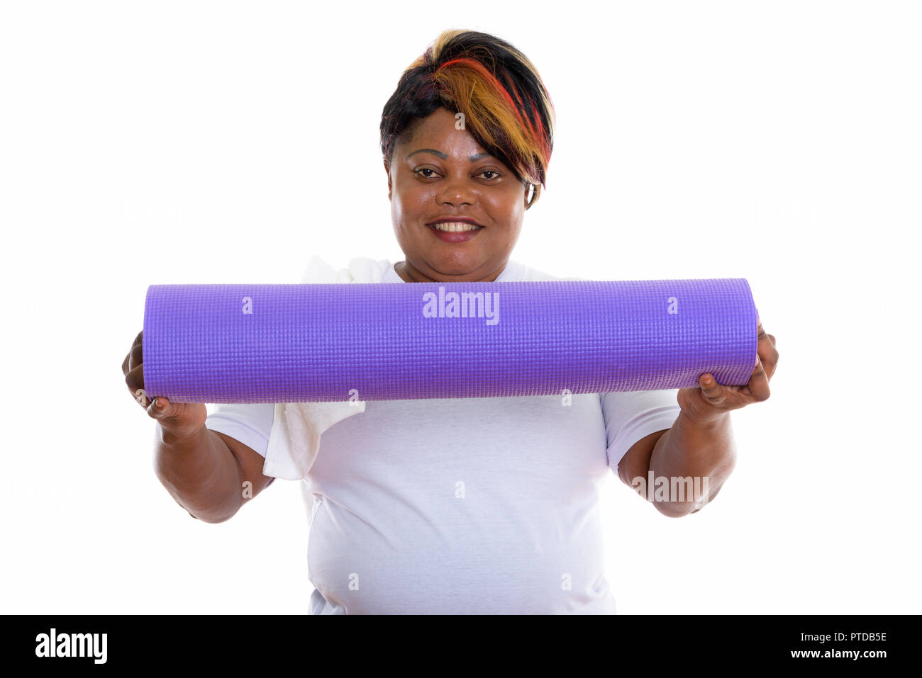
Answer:
[[[741,385],[757,321],[745,278],[154,285],[144,380],[184,403]]]

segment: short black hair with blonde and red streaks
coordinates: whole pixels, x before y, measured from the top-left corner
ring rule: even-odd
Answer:
[[[446,30],[400,76],[381,115],[381,150],[440,107],[464,113],[465,129],[516,179],[546,186],[554,146],[554,108],[538,70],[511,44],[474,30]]]

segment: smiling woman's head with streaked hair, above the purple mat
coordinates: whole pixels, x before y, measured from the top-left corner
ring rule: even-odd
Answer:
[[[508,42],[444,32],[384,106],[381,149],[408,282],[494,281],[545,185],[554,111]]]

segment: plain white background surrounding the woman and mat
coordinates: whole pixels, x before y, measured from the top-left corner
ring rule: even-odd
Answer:
[[[307,611],[299,484],[193,520],[120,366],[150,284],[402,259],[381,110],[468,28],[526,53],[557,111],[514,259],[746,277],[777,337],[714,503],[667,519],[609,479],[619,611],[920,612],[918,6],[330,5],[0,10],[0,611]]]

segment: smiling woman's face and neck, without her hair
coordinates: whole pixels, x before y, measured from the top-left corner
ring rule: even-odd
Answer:
[[[455,123],[455,113],[434,111],[384,162],[394,232],[407,258],[396,270],[408,282],[495,280],[522,229],[525,185]],[[446,232],[436,222],[478,228]]]

